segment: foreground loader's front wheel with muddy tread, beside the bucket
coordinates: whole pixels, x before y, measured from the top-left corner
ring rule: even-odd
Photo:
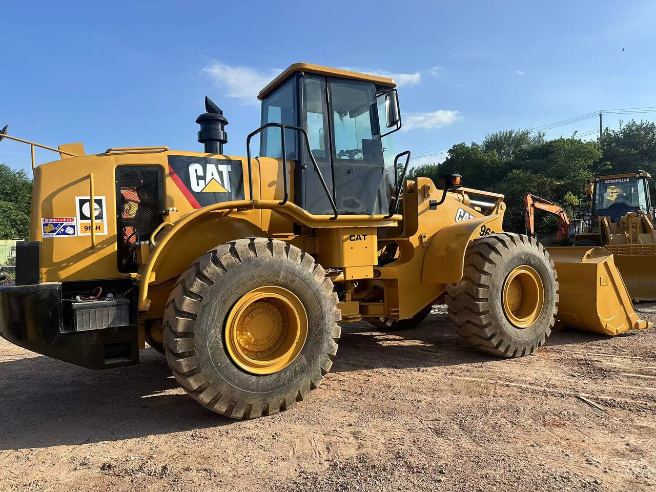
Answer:
[[[556,321],[558,282],[535,239],[491,234],[466,251],[464,274],[447,287],[449,318],[472,347],[504,357],[533,354]]]

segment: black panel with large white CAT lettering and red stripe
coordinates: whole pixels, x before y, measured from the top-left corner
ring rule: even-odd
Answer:
[[[244,199],[241,161],[169,155],[169,176],[195,209]]]

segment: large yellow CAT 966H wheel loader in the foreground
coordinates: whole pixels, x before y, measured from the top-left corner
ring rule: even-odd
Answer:
[[[192,398],[252,418],[318,386],[338,323],[408,327],[443,299],[466,342],[524,356],[551,333],[560,280],[615,309],[581,305],[584,328],[646,325],[608,276],[612,257],[592,249],[554,269],[537,241],[503,232],[502,195],[457,174],[405,180],[391,79],[294,64],[259,98],[245,157],[224,154],[228,121],[207,99],[204,152],[87,155],[7,134],[61,159],[34,170],[30,241],[16,285],[0,287],[3,337],[92,369],[138,363],[148,342]]]

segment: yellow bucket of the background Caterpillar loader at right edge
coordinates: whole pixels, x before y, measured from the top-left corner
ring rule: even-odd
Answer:
[[[607,245],[605,249],[613,253],[632,300],[656,300],[656,244]]]

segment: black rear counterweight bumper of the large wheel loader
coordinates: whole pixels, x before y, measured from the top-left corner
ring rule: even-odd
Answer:
[[[113,282],[125,283],[126,280]],[[70,291],[75,288],[74,284],[77,283],[0,287],[0,335],[33,352],[89,369],[138,363],[136,309],[130,313],[129,325],[76,329],[70,302],[62,300],[62,289]],[[131,310],[135,302],[133,296]]]

